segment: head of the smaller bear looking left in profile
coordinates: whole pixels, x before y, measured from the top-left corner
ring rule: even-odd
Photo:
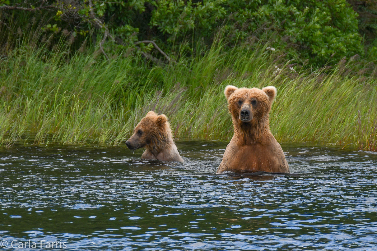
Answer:
[[[133,129],[133,134],[126,141],[126,145],[131,150],[147,147],[165,140],[169,133],[171,134],[171,130],[167,117],[150,111]]]

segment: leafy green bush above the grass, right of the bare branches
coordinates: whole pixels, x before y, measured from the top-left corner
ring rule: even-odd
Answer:
[[[363,53],[357,14],[345,0],[154,3],[150,25],[169,34],[167,41],[192,35],[210,40],[216,28],[224,27],[232,33],[231,45],[272,37],[273,46],[292,48],[315,64],[325,64],[332,55],[338,61]]]

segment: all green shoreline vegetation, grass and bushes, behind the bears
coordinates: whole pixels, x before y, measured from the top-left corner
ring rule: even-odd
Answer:
[[[224,88],[273,85],[280,143],[377,151],[375,2],[0,0],[0,147],[228,141]]]

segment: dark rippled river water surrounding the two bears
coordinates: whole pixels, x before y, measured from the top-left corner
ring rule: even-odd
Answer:
[[[140,160],[142,150],[123,147],[0,149],[0,241],[5,249],[61,240],[66,250],[377,250],[377,154],[283,146],[300,175],[237,176],[215,174],[225,143],[177,145],[183,164]]]

